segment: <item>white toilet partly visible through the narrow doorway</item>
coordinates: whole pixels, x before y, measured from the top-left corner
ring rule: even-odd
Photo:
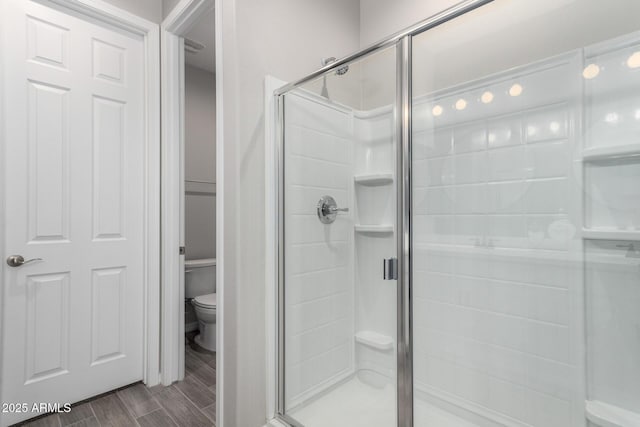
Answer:
[[[184,263],[184,293],[191,300],[200,333],[196,343],[216,351],[216,259],[193,259]]]

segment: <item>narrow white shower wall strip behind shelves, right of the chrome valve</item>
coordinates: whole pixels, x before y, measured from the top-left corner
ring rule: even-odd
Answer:
[[[389,107],[354,114],[356,174],[395,171],[394,111]],[[395,225],[395,183],[369,187],[356,184],[355,218],[359,224]],[[382,260],[396,256],[395,234],[355,234],[355,328],[373,331],[396,341],[396,286],[383,279]],[[356,370],[366,370],[376,381],[395,384],[395,346],[378,350],[356,343]],[[368,377],[364,377],[368,378]],[[391,399],[391,396],[389,396]],[[384,405],[392,406],[391,401]]]

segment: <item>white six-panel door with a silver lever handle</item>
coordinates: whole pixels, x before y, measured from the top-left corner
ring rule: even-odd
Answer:
[[[143,376],[143,40],[1,1],[4,248],[42,258],[4,266],[1,396],[75,402]]]

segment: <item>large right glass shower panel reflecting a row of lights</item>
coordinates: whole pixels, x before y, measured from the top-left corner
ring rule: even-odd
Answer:
[[[640,425],[640,2],[413,38],[417,427]]]

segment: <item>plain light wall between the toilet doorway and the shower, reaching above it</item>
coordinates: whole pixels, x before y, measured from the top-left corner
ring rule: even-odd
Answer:
[[[264,77],[293,80],[358,48],[356,0],[224,0],[226,426],[265,418]],[[220,89],[220,88],[218,88]]]

